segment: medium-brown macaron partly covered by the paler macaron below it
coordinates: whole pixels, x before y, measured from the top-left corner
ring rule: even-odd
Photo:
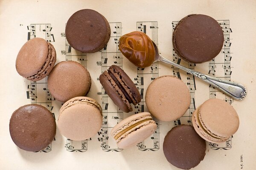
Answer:
[[[61,102],[85,96],[91,87],[90,73],[76,61],[62,61],[48,76],[48,89],[52,96]]]

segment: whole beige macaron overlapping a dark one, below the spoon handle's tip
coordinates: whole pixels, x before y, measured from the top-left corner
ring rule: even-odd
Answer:
[[[195,109],[192,115],[195,131],[206,141],[227,141],[239,128],[239,116],[227,102],[212,98]]]

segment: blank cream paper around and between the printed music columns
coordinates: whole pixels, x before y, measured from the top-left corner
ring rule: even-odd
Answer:
[[[207,153],[204,160],[195,170],[253,170],[256,167],[256,1],[254,0],[0,0],[0,169],[1,170],[34,170],[34,169],[171,169],[177,168],[166,161],[163,155],[163,138],[174,126],[172,122],[160,122],[160,149],[157,151],[140,151],[132,147],[121,152],[105,152],[97,140],[98,135],[88,141],[88,150],[84,153],[68,152],[66,138],[57,130],[56,141],[52,142],[49,153],[30,153],[18,149],[9,135],[9,118],[18,107],[29,104],[26,98],[30,81],[17,74],[15,59],[20,47],[27,40],[30,24],[50,23],[54,34],[57,62],[64,61],[65,39],[61,32],[65,30],[68,18],[80,9],[94,9],[103,14],[109,22],[122,22],[122,34],[137,29],[138,21],[157,21],[158,47],[166,58],[172,58],[172,21],[178,21],[188,14],[207,14],[216,20],[230,20],[232,46],[232,76],[247,87],[247,97],[243,101],[234,101],[233,107],[240,118],[240,127],[232,139],[230,150],[212,150],[207,142]],[[100,60],[100,52],[87,55],[93,87],[88,94],[101,103],[101,91],[97,81],[101,67],[96,65]],[[220,55],[217,58],[221,58]],[[181,62],[186,66],[185,62]],[[159,76],[170,74],[172,68],[159,63]],[[195,70],[207,73],[209,63],[198,64]],[[132,78],[137,69],[125,58],[123,69]],[[186,74],[181,72],[181,77]],[[216,73],[220,74],[220,72]],[[182,79],[183,80],[183,79]],[[186,80],[183,80],[186,82]],[[195,106],[209,98],[209,86],[198,79],[195,80]],[[149,83],[149,82],[148,82]],[[146,86],[145,86],[146,88]],[[224,95],[218,95],[224,98]],[[61,103],[52,101],[56,119]],[[111,107],[114,107],[113,104]],[[124,114],[124,117],[133,114]],[[109,138],[109,141],[112,141]],[[242,157],[242,158],[241,158]],[[242,159],[242,162],[241,162]]]

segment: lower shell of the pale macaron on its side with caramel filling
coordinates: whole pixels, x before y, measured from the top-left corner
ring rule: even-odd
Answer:
[[[123,134],[117,142],[117,146],[122,149],[134,146],[152,135],[157,129],[157,124],[154,121],[146,121],[125,134]]]

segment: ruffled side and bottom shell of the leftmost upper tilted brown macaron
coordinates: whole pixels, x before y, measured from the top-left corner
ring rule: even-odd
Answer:
[[[50,68],[52,68],[52,63],[55,63],[54,62],[55,53],[56,53],[55,49],[52,46],[52,44],[50,44],[48,42],[47,42],[47,45],[48,45],[48,55],[47,55],[46,62],[44,63],[44,65],[41,67],[41,69],[35,75],[29,76],[29,77],[27,77],[27,79],[33,81],[35,79],[41,78],[42,76],[47,74],[47,72],[50,70]]]

